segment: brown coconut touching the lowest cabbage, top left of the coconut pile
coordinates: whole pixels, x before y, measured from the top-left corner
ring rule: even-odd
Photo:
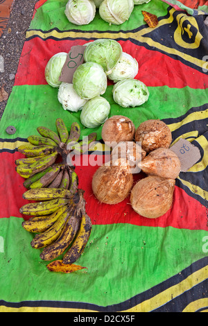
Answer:
[[[103,124],[101,137],[108,146],[114,148],[120,141],[132,141],[135,125],[128,117],[114,115]]]

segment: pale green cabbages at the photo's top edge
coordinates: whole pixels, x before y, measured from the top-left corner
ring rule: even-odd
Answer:
[[[72,24],[87,25],[93,21],[98,9],[101,18],[111,24],[126,22],[135,5],[148,3],[150,0],[69,0],[65,15]]]

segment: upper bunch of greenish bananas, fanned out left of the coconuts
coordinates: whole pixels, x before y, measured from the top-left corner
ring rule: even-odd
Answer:
[[[79,141],[80,126],[74,122],[71,125],[70,133],[64,121],[56,119],[57,132],[46,127],[38,127],[40,135],[28,137],[28,143],[19,146],[19,153],[26,157],[15,161],[16,171],[25,178],[26,189],[36,188],[74,188],[76,190],[78,178],[73,171],[74,167],[69,166],[67,156],[71,151],[82,154],[89,149],[90,144],[96,141],[96,133]],[[58,155],[62,162],[55,164]]]

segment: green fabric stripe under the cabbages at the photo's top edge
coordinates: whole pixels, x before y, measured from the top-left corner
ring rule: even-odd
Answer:
[[[158,0],[152,0],[150,3],[135,6],[132,15],[128,22],[119,26],[109,25],[104,22],[96,12],[94,20],[84,26],[71,24],[67,17],[64,15],[64,10],[67,0],[48,0],[42,7],[37,9],[36,15],[31,22],[30,29],[41,29],[42,31],[50,31],[52,28],[58,28],[60,31],[80,30],[80,31],[129,31],[138,28],[144,22],[144,17],[141,10],[146,10],[155,13],[157,17],[167,14],[168,4]]]

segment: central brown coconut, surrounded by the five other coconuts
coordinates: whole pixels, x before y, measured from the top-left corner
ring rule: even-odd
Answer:
[[[144,159],[146,151],[141,148],[140,144],[135,141],[120,141],[116,145],[111,153],[111,159],[116,160],[117,158],[125,158],[130,164],[131,173],[139,173],[141,169],[137,164]]]

